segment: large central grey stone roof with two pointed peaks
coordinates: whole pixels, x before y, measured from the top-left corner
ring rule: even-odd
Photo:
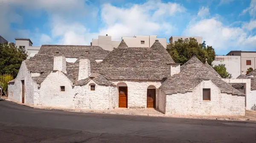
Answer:
[[[99,73],[109,79],[157,79],[162,80],[170,74],[172,57],[156,41],[151,48],[129,47],[122,40],[101,63]]]

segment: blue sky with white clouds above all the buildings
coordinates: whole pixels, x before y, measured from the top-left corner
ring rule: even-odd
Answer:
[[[216,54],[256,50],[256,0],[0,0],[0,35],[89,45],[98,35],[202,36]]]

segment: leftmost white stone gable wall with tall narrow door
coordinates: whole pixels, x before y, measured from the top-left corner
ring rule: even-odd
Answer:
[[[8,98],[12,101],[22,102],[22,83],[21,80],[24,80],[25,84],[25,98],[24,104],[34,104],[34,87],[36,83],[32,80],[31,75],[26,67],[25,62],[23,61],[19,73],[15,79],[15,83],[9,84],[8,87]]]

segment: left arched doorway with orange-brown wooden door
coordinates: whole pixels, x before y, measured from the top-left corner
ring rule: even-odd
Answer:
[[[119,106],[120,108],[127,108],[128,107],[128,88],[124,82],[119,82],[117,85],[118,87],[118,95],[119,95]]]

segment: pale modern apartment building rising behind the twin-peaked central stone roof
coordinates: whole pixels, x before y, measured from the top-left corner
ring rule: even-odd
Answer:
[[[166,48],[166,38],[157,38],[157,35],[149,36],[133,36],[133,37],[122,37],[122,40],[128,45],[128,47],[151,47],[155,40],[158,40],[164,48]],[[98,39],[93,39],[91,42],[92,46],[99,46],[105,50],[113,50],[117,48],[121,41],[112,41],[112,37],[108,36],[98,36]]]

